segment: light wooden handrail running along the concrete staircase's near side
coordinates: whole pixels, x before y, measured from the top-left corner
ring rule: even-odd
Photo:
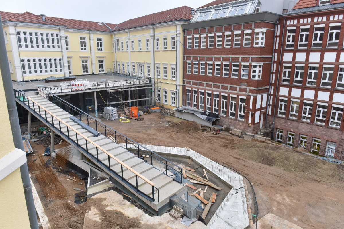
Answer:
[[[81,137],[85,138],[87,141],[89,141],[90,143],[92,143],[95,147],[99,148],[101,151],[103,151],[104,153],[108,154],[108,156],[110,156],[111,158],[113,158],[114,160],[116,160],[118,163],[120,163],[121,165],[123,165],[124,167],[126,167],[128,170],[130,170],[132,173],[134,173],[135,175],[137,175],[139,178],[141,178],[142,180],[146,181],[148,184],[150,184],[151,186],[154,186],[155,184],[153,182],[151,182],[150,180],[148,180],[147,178],[145,178],[144,176],[142,176],[140,173],[138,173],[137,171],[133,170],[132,168],[130,168],[127,164],[125,164],[124,162],[122,162],[121,160],[117,159],[116,157],[114,157],[111,153],[109,153],[108,151],[106,151],[105,149],[103,149],[102,147],[100,147],[98,144],[96,144],[94,141],[92,141],[91,139],[89,139],[88,137],[86,137],[85,135],[83,135],[82,133],[80,133],[79,131],[77,131],[76,129],[74,129],[73,127],[69,126],[67,123],[65,123],[62,119],[58,118],[56,115],[52,114],[50,111],[48,111],[46,108],[42,107],[40,104],[38,104],[37,102],[33,101],[30,97],[26,97],[28,99],[28,103],[29,100],[31,100],[33,103],[35,103],[37,106],[41,107],[44,111],[48,112],[49,114],[51,114],[52,116],[54,116],[58,121],[60,121],[61,123],[65,124],[68,128],[72,129],[75,133],[77,133],[78,135],[80,135]],[[25,102],[24,102],[25,103]]]

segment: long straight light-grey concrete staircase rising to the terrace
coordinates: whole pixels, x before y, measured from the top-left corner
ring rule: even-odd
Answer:
[[[100,147],[104,148],[106,151],[111,153],[114,157],[121,160],[125,164],[127,164],[130,168],[137,171],[141,175],[143,175],[146,179],[149,179],[151,182],[155,184],[154,187],[159,189],[159,203],[158,203],[158,193],[155,191],[154,198],[155,201],[151,202],[149,199],[145,198],[144,196],[140,195],[136,192],[136,188],[133,189],[129,185],[127,185],[125,182],[123,182],[121,179],[119,179],[116,175],[112,174],[107,166],[104,166],[103,164],[99,163],[96,159],[89,156],[89,154],[85,153],[83,150],[78,149],[81,153],[83,153],[87,158],[92,160],[99,168],[104,170],[106,173],[109,174],[112,178],[114,178],[117,182],[119,182],[121,185],[127,188],[127,190],[130,190],[132,194],[136,195],[141,201],[148,204],[152,209],[159,212],[160,207],[166,207],[166,205],[169,203],[169,197],[173,196],[174,194],[178,194],[181,192],[184,192],[186,190],[186,186],[183,186],[182,184],[174,181],[169,176],[166,176],[162,171],[156,169],[152,165],[148,164],[147,162],[143,161],[142,159],[138,158],[137,155],[129,152],[127,149],[121,147],[120,145],[116,144],[111,139],[107,138],[103,134],[100,134],[98,137],[94,137],[93,134],[88,132],[86,129],[83,129],[80,125],[77,123],[74,123],[69,117],[71,114],[67,113],[57,105],[53,104],[52,102],[49,102],[47,99],[43,98],[40,95],[28,95],[28,97],[32,100],[34,100],[36,103],[47,109],[49,112],[53,113],[60,119],[62,119],[68,127],[73,127],[85,137],[89,138],[90,140],[94,141],[96,144],[98,144]],[[16,98],[17,99],[17,98]],[[45,114],[44,110],[41,108],[41,117],[39,117],[39,114],[35,114],[32,110],[32,102],[30,102],[30,108],[26,106],[17,99],[17,102],[24,106],[27,110],[29,110],[31,113],[33,113],[36,117],[38,117],[43,123],[52,125],[52,117],[49,113],[47,113],[47,121],[44,120]],[[34,106],[35,111],[38,113],[38,107],[37,105]],[[43,118],[42,118],[43,117]],[[59,130],[60,126],[58,121],[54,118],[54,126]],[[55,130],[55,132],[58,131]],[[67,126],[61,123],[61,132],[63,132],[65,135],[67,135]],[[73,130],[69,129],[69,136],[70,139],[74,140],[76,142],[76,134]],[[71,141],[70,139],[61,136],[66,141],[71,143],[71,145],[74,145],[76,147],[76,144]],[[78,144],[79,147],[82,147],[84,150],[86,150],[86,141],[85,139],[78,135]],[[77,147],[76,147],[77,148]],[[97,158],[97,152],[96,147],[93,144],[87,143],[87,151],[92,154],[95,158]],[[98,159],[99,161],[103,162],[105,165],[108,165],[108,155],[98,149]],[[114,160],[113,158],[110,158],[110,168],[115,171],[117,174],[121,176],[121,164]],[[134,187],[136,187],[136,175],[132,173],[127,168],[123,167],[123,177],[126,181],[128,181],[130,184],[132,184]],[[152,186],[142,180],[141,178],[138,178],[138,189],[139,191],[147,194],[148,196],[152,196]]]

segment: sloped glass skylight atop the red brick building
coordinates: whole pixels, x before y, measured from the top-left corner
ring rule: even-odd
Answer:
[[[258,0],[241,0],[214,7],[196,10],[192,22],[208,19],[224,18],[228,16],[256,13],[260,11],[261,4]]]

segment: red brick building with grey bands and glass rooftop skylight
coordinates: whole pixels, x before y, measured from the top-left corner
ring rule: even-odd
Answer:
[[[217,0],[195,10],[183,25],[184,106],[217,113],[215,124],[247,133],[265,126],[282,2]]]

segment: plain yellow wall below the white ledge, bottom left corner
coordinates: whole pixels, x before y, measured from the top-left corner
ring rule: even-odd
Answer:
[[[3,229],[30,229],[19,168],[0,181],[0,222]]]

